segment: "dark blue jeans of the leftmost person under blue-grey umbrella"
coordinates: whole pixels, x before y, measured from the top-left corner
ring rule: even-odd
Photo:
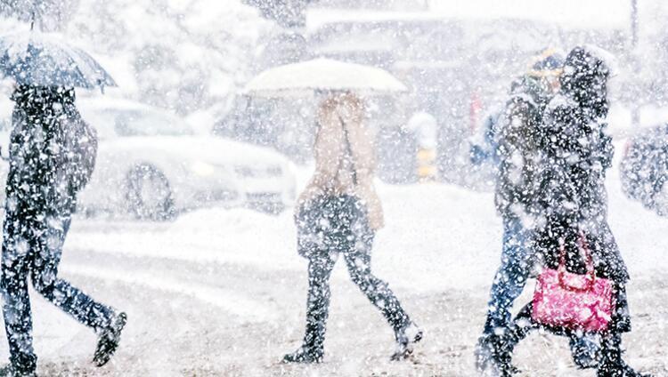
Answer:
[[[57,277],[70,216],[35,218],[7,213],[4,220],[0,287],[10,362],[19,373],[31,373],[37,368],[32,346],[29,277],[37,293],[96,331],[110,325],[113,315],[112,309]]]

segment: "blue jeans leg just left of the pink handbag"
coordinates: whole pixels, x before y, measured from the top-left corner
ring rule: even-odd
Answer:
[[[532,267],[533,253],[526,247],[527,231],[518,219],[503,221],[501,267],[494,276],[484,335],[505,331],[511,323],[510,309],[524,290]]]

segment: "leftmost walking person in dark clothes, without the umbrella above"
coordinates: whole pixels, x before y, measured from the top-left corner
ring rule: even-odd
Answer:
[[[28,279],[37,293],[98,333],[94,363],[102,366],[118,346],[126,314],[94,301],[58,277],[62,245],[77,192],[95,164],[97,139],[74,105],[74,90],[19,85],[12,100],[10,170],[0,287],[9,341],[10,375],[34,375]]]

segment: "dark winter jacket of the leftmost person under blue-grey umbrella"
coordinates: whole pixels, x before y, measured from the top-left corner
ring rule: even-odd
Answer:
[[[74,106],[74,91],[21,86],[12,100],[7,213],[39,221],[74,212],[97,152],[95,132]]]

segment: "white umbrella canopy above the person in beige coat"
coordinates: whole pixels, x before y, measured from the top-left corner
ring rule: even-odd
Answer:
[[[250,80],[245,91],[260,96],[284,96],[314,91],[387,94],[406,92],[407,88],[384,69],[315,59],[267,69]]]

